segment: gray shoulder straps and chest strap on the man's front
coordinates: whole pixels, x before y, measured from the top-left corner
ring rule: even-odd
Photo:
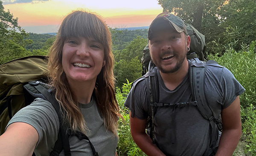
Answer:
[[[187,103],[180,104],[191,104],[198,107],[198,111],[201,115],[207,119],[210,123],[212,130],[212,145],[218,142],[218,138],[221,135],[222,123],[219,116],[213,113],[213,109],[207,102],[204,96],[204,78],[205,78],[205,68],[207,64],[218,64],[216,61],[209,60],[207,62],[200,61],[198,58],[192,58],[189,65],[189,81],[192,89],[193,98],[195,101],[189,101]],[[159,103],[159,85],[157,78],[157,69],[154,67],[152,61],[149,62],[148,72],[143,75],[143,77],[138,78],[134,81],[131,88],[131,117],[134,117],[134,90],[138,82],[145,81],[146,90],[148,95],[148,101],[150,101],[151,107],[151,117],[148,117],[146,131],[151,137],[152,142],[155,144],[154,139],[154,115],[156,114],[157,107],[166,107],[172,104],[169,103]],[[216,147],[212,147],[214,149]]]

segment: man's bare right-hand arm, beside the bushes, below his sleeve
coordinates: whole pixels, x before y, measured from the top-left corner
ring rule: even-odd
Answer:
[[[223,131],[215,156],[232,156],[241,137],[239,96],[221,112]]]

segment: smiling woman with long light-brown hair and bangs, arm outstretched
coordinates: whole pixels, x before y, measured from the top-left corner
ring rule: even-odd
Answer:
[[[114,156],[117,122],[111,35],[96,14],[75,11],[62,22],[49,50],[49,78],[62,118],[73,131],[86,134],[99,156]],[[59,121],[52,104],[37,98],[20,110],[0,136],[1,156],[49,156]],[[92,156],[87,140],[69,137],[72,156]],[[63,151],[60,156],[63,156]]]

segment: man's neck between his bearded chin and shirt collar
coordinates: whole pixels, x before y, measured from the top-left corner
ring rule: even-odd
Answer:
[[[160,75],[163,80],[163,83],[169,90],[175,90],[175,88],[184,80],[186,74],[189,70],[188,61],[184,61],[180,69],[173,73],[163,73],[161,71]]]

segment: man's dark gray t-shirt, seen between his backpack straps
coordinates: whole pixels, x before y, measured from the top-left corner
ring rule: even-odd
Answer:
[[[157,146],[167,156],[206,155],[211,139],[209,121],[204,119],[196,106],[178,104],[193,101],[189,75],[172,91],[163,83],[158,69],[157,76],[159,102],[173,104],[157,107],[154,116]],[[244,88],[227,68],[214,64],[207,65],[204,87],[206,99],[217,115],[244,92]],[[125,106],[131,110],[131,92]],[[139,119],[151,116],[145,81],[138,82],[134,90],[134,116]]]

